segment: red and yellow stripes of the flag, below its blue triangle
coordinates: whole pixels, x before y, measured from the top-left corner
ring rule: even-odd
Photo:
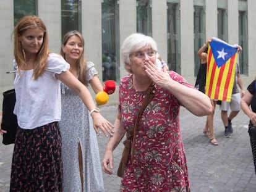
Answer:
[[[234,86],[236,59],[237,53],[219,68],[216,65],[215,59],[211,52],[211,47],[209,46],[205,94],[207,94],[211,99],[231,101]]]

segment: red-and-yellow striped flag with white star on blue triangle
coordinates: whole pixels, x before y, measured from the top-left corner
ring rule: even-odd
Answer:
[[[211,99],[231,101],[237,59],[237,44],[213,38],[207,52],[205,94]]]

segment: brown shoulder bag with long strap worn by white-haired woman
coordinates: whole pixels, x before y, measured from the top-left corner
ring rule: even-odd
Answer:
[[[145,110],[145,108],[148,106],[150,101],[153,99],[155,93],[153,91],[155,87],[155,84],[151,83],[150,86],[147,89],[147,94],[145,96],[145,99],[142,102],[142,106],[140,107],[139,114],[137,116],[137,119],[134,124],[134,128],[132,130],[126,131],[126,140],[124,140],[124,151],[122,152],[121,161],[119,164],[119,167],[117,169],[117,176],[123,177],[124,175],[124,169],[126,168],[126,165],[129,160],[129,156],[131,154],[131,161],[134,160],[134,145],[135,145],[135,136],[137,134],[137,128],[139,126],[139,120],[142,117],[142,113]],[[132,141],[132,148],[130,148],[130,142]]]

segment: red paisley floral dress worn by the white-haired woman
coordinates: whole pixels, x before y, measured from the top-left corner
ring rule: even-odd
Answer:
[[[194,88],[178,73],[169,71],[169,75]],[[145,91],[134,89],[132,75],[122,78],[119,107],[125,130],[134,128],[144,97]],[[190,191],[179,108],[179,101],[170,91],[155,86],[155,97],[140,119],[134,161],[130,162],[129,157],[120,191]]]

